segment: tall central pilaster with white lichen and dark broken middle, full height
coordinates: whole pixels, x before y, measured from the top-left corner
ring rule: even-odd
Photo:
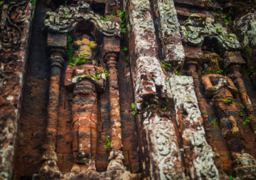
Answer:
[[[143,179],[185,179],[148,0],[129,1],[129,57]],[[169,103],[167,103],[169,102]],[[161,104],[165,106],[161,106]],[[165,110],[163,110],[165,109]],[[135,140],[136,141],[136,140]]]

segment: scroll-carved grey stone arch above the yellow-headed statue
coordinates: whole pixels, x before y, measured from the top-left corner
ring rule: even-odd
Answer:
[[[81,21],[90,21],[106,36],[120,36],[120,26],[117,22],[100,19],[100,15],[95,14],[89,3],[84,1],[79,1],[76,7],[60,6],[56,12],[47,12],[44,29],[52,33],[69,33]]]

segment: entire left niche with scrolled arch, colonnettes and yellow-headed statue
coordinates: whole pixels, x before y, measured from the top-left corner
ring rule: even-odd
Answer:
[[[33,31],[36,45],[31,46],[24,97],[34,97],[29,91],[35,91],[37,98],[24,99],[15,178],[136,178],[137,130],[131,108],[124,109],[133,95],[120,53],[119,5],[116,1],[46,1],[46,5],[52,10],[40,1],[37,6],[44,13],[35,15],[35,21],[42,22],[35,27],[42,33]],[[39,47],[41,54],[35,50]],[[37,64],[48,68],[39,68],[35,77]],[[46,100],[41,103],[38,98]],[[38,105],[32,110],[29,103]],[[33,129],[39,123],[42,128]],[[29,136],[31,143],[26,141]]]

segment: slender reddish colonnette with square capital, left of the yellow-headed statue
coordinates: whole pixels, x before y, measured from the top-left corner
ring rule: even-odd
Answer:
[[[47,107],[47,127],[44,143],[44,154],[42,161],[57,161],[56,135],[58,105],[60,97],[60,76],[64,64],[64,53],[66,48],[65,35],[48,34],[47,47],[50,55],[51,78],[49,84],[48,107]]]

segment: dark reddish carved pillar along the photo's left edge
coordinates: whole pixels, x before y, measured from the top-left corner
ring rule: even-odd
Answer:
[[[3,5],[0,36],[0,179],[12,178],[12,158],[21,108],[33,6],[28,1]]]

